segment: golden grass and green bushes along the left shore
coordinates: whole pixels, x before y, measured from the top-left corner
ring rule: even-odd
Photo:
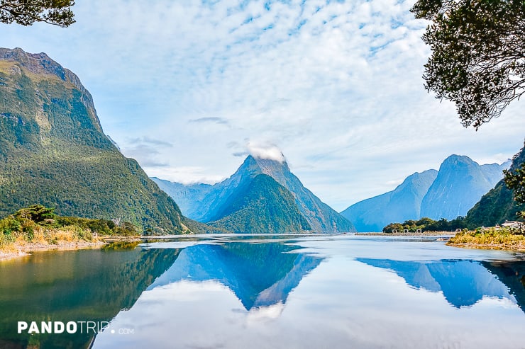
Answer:
[[[30,251],[99,248],[115,241],[138,241],[133,224],[106,219],[57,216],[54,208],[31,205],[0,219],[0,261]]]

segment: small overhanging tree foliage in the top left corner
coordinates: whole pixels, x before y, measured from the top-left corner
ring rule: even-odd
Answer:
[[[60,27],[74,23],[74,0],[0,0],[0,22],[32,25],[45,22]]]

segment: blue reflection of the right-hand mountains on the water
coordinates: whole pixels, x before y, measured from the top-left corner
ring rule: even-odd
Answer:
[[[507,285],[475,261],[406,262],[387,259],[358,258],[357,261],[392,270],[417,289],[443,292],[453,307],[470,307],[483,297],[508,298],[514,301]]]

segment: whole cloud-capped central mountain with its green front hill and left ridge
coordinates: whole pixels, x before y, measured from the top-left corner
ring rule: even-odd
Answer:
[[[353,224],[304,188],[286,161],[248,156],[215,185],[182,185],[152,178],[181,203],[187,217],[236,232],[341,232]]]

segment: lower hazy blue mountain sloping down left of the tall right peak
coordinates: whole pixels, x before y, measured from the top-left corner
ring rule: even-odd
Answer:
[[[436,170],[416,172],[394,190],[357,202],[341,215],[358,231],[382,231],[389,223],[419,217],[421,200],[437,176]]]

